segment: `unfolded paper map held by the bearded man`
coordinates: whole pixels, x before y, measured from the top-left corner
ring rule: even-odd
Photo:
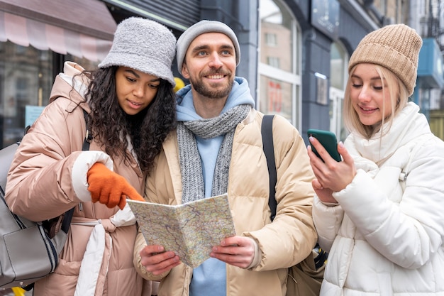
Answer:
[[[212,246],[235,235],[227,194],[178,205],[126,201],[148,245],[174,251],[192,268],[210,257]]]

